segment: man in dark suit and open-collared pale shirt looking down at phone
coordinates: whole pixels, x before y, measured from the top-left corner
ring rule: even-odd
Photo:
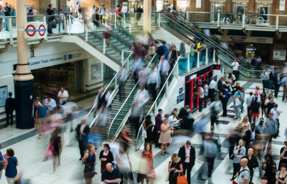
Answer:
[[[182,162],[184,175],[187,170],[187,182],[190,184],[190,173],[195,163],[195,147],[191,145],[190,141],[186,141],[186,144],[179,148],[178,156]]]

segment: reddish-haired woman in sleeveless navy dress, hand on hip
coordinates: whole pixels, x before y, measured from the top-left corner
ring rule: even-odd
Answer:
[[[92,178],[95,174],[98,174],[95,172],[97,153],[95,152],[95,146],[92,144],[88,146],[88,150],[89,151],[83,156],[82,162],[85,164],[84,177],[86,178],[86,184],[92,184]]]

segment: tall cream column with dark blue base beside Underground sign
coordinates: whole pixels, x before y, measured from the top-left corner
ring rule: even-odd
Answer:
[[[32,117],[34,79],[28,65],[27,39],[24,37],[24,24],[27,22],[26,0],[16,1],[17,56],[18,64],[14,76],[16,100],[16,127],[30,129],[34,127]]]

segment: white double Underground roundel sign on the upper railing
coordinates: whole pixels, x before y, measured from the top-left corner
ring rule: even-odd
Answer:
[[[46,38],[47,24],[46,22],[26,22],[25,23],[25,38]]]

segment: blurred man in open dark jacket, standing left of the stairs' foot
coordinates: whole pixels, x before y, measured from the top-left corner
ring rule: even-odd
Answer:
[[[79,141],[79,148],[81,154],[81,158],[79,160],[82,160],[88,147],[88,136],[90,133],[90,128],[86,124],[86,122],[87,122],[86,119],[83,118],[81,123],[79,123],[76,127],[76,137]]]

